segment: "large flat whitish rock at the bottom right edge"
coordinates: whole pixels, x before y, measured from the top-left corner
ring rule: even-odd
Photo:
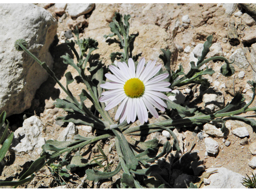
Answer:
[[[206,172],[214,171],[217,169],[217,172],[211,174],[208,179],[211,180],[211,183],[203,188],[246,188],[242,185],[244,178],[243,175],[232,172],[227,168],[208,168]]]

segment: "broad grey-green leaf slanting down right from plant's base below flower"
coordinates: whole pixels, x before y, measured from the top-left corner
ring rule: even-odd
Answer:
[[[122,134],[119,128],[113,128],[112,131],[114,132],[116,138],[120,142],[120,146],[122,149],[122,153],[124,154],[124,160],[126,162],[126,166],[136,170],[136,166],[139,164],[138,160],[135,158],[132,150],[130,149],[129,143],[127,142],[126,138]]]

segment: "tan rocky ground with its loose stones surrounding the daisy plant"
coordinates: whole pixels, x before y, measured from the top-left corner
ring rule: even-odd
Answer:
[[[63,64],[60,58],[66,53],[71,55],[71,51],[65,44],[65,40],[74,39],[70,30],[78,26],[81,37],[96,39],[99,43],[99,49],[94,54],[98,54],[102,63],[108,66],[111,64],[109,55],[120,48],[117,44],[108,46],[103,36],[111,33],[108,25],[112,21],[114,13],[120,12],[122,15],[131,15],[130,33],[138,34],[134,42],[133,54],[139,55],[139,59],[143,56],[146,61],[157,60],[157,62],[161,62],[158,58],[159,54],[162,54],[160,48],[168,48],[173,53],[172,70],[176,70],[179,65],[182,65],[185,72],[188,72],[190,61],[197,61],[197,57],[202,52],[202,45],[209,35],[213,35],[214,44],[207,57],[224,56],[231,61],[235,59],[236,72],[233,76],[227,78],[220,74],[220,67],[223,64],[221,61],[208,62],[203,67],[208,66],[216,72],[212,76],[205,76],[212,87],[205,89],[202,86],[192,84],[177,88],[173,91],[176,96],[170,96],[170,100],[183,106],[197,105],[204,112],[214,112],[230,102],[237,92],[244,94],[246,103],[252,98],[252,91],[247,81],[256,80],[256,22],[255,18],[248,15],[245,9],[237,4],[95,4],[88,5],[87,11],[84,11],[86,8],[73,10],[69,4],[37,4],[37,6],[45,8],[58,20],[57,35],[59,41],[50,52],[54,58],[53,71],[62,84],[66,84],[64,77],[66,72],[70,71],[74,77],[78,75],[72,67]],[[230,37],[232,30],[236,31],[237,37]],[[76,60],[74,59],[74,61]],[[70,86],[70,91],[78,96],[80,90],[84,88],[84,84],[80,82],[79,78],[75,79],[76,81]],[[66,114],[64,110],[54,108],[53,103],[56,98],[66,98],[66,94],[49,77],[37,90],[30,109],[8,118],[11,124],[10,130],[15,132],[17,139],[16,143],[14,142],[13,150],[10,150],[6,160],[2,162],[5,166],[3,170],[0,170],[2,172],[0,180],[17,179],[20,172],[30,166],[31,160],[36,160],[39,157],[40,145],[44,144],[44,139],[66,140],[77,133],[83,136],[95,134],[90,127],[67,125],[56,121],[57,116]],[[92,106],[90,102],[85,104],[87,107]],[[254,101],[252,106],[255,104]],[[114,117],[114,110],[110,113]],[[254,112],[244,114],[244,116],[254,115]],[[153,122],[156,119],[152,118],[150,121]],[[18,134],[22,135],[28,131],[25,128],[26,124],[33,125],[33,129],[37,129],[36,136],[31,135],[26,140],[18,139]],[[138,124],[138,122],[134,124]],[[219,172],[222,174],[218,177],[225,174],[232,175],[230,177],[232,182],[227,182],[226,186],[211,178],[213,174],[209,180],[204,181],[201,187],[240,188],[242,176],[252,175],[252,172],[256,173],[254,170],[256,168],[256,157],[254,156],[256,155],[256,134],[252,127],[244,122],[232,120],[226,122],[226,127],[229,131],[224,134],[218,125],[212,124],[176,130],[175,132],[183,154],[190,150],[194,142],[196,145],[193,151],[198,153],[203,164],[201,167],[206,169],[221,168]],[[29,134],[27,133],[27,135]],[[170,140],[170,142],[172,140],[165,132],[153,134],[147,139],[154,137],[161,137],[163,143],[165,140]],[[136,139],[136,137],[133,138]],[[115,166],[118,158],[115,156],[116,151],[113,142],[111,139],[99,144],[108,153],[109,159]],[[34,143],[34,147],[32,143]],[[87,158],[97,154],[95,146],[90,146],[90,148],[92,148],[92,152],[86,155]],[[169,172],[167,169],[170,156],[173,154],[162,159],[166,172]],[[156,163],[160,164],[161,162]],[[101,182],[100,188],[112,188],[120,175],[119,173],[112,180]],[[84,180],[84,176],[84,170],[72,173],[72,180],[65,187],[76,188],[81,183],[80,186],[84,188],[97,186],[95,183]],[[170,181],[176,187],[184,187],[184,183],[179,183],[178,180],[189,177],[179,174],[178,171],[172,171],[172,176],[179,178]],[[44,168],[38,172],[32,182],[19,186],[19,188],[49,186],[56,187],[57,184],[51,177],[49,170]]]

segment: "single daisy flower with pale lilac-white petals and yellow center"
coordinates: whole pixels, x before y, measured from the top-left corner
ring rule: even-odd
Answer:
[[[100,85],[109,90],[102,93],[100,102],[108,102],[105,110],[110,110],[122,102],[116,111],[115,120],[120,117],[120,123],[122,123],[126,118],[130,123],[134,122],[138,116],[140,122],[143,123],[148,122],[148,111],[158,118],[158,112],[154,107],[165,111],[164,107],[167,106],[162,99],[168,100],[168,97],[160,91],[171,91],[166,88],[170,86],[170,83],[162,81],[169,74],[164,73],[152,78],[161,68],[161,64],[155,65],[156,60],[149,61],[144,67],[145,59],[142,58],[135,72],[134,62],[130,58],[128,66],[125,62],[118,62],[118,68],[113,65],[109,66],[114,75],[105,74],[106,78],[112,82]]]

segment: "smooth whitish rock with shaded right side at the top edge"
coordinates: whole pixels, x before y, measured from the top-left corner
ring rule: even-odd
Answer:
[[[68,3],[66,10],[71,17],[78,17],[89,13],[95,6],[95,3]]]

